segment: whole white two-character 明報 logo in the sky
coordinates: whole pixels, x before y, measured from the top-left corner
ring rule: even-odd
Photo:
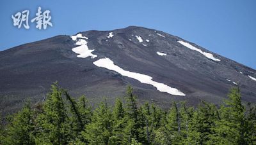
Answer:
[[[44,13],[41,11],[41,7],[38,7],[36,17],[31,20],[31,22],[36,21],[36,28],[41,30],[42,26],[44,29],[47,29],[47,25],[52,27],[51,23],[51,11],[45,10]],[[29,29],[29,10],[24,10],[22,12],[16,13],[14,16],[12,15],[13,25],[18,27],[24,26],[25,29]]]

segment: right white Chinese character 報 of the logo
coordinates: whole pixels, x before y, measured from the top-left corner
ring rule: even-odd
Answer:
[[[36,17],[33,18],[31,22],[34,22],[36,20],[36,28],[39,30],[42,29],[42,25],[44,26],[44,29],[47,28],[47,25],[51,25],[52,27],[52,23],[50,22],[52,17],[50,16],[50,13],[51,11],[49,10],[46,10],[44,11],[44,13],[42,13],[41,7],[38,7]]]

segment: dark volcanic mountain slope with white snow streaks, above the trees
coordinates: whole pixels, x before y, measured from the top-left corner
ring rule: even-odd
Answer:
[[[16,46],[0,52],[2,113],[22,102],[44,100],[51,83],[113,101],[134,87],[140,102],[168,107],[171,100],[220,104],[239,84],[243,101],[256,102],[256,71],[194,43],[144,27],[86,31]]]

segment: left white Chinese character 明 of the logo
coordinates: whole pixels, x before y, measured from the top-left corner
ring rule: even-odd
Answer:
[[[25,22],[23,26],[25,27],[25,29],[29,29],[28,16],[29,16],[29,10],[22,11],[21,13],[18,12],[14,16],[12,15],[13,25],[18,26],[18,28],[20,29],[23,22]]]

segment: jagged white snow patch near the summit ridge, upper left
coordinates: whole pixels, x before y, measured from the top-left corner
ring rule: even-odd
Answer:
[[[77,34],[76,36],[70,36],[70,38],[72,38],[72,40],[76,41],[75,45],[79,45],[75,48],[72,48],[72,51],[74,53],[79,54],[79,55],[77,55],[77,57],[79,57],[79,58],[91,57],[92,59],[97,57],[97,55],[94,55],[92,53],[94,50],[90,50],[88,48],[87,41],[85,40],[88,38],[86,38],[85,36],[82,36],[82,34]],[[77,38],[79,38],[78,41],[77,41]]]

